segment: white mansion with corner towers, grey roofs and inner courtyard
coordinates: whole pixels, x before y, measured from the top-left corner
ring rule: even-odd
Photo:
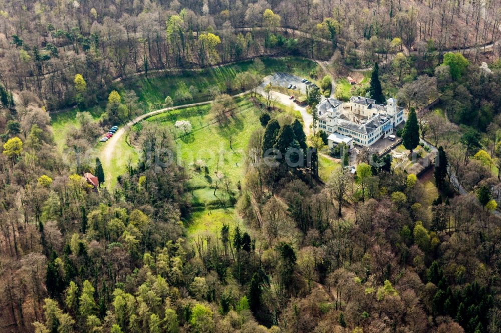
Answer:
[[[327,98],[317,105],[318,119],[316,128],[327,132],[329,147],[345,142],[350,147],[372,145],[379,138],[393,133],[403,121],[403,107],[397,100],[390,98],[386,105],[376,104],[374,99],[352,96],[343,103]]]

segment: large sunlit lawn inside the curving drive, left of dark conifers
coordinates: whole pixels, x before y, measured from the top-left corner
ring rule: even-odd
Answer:
[[[218,231],[223,223],[230,224],[233,228],[241,222],[224,189],[225,185],[219,178],[222,175],[227,177],[232,195],[236,198],[238,182],[245,173],[244,149],[250,134],[261,126],[261,111],[246,96],[236,99],[236,103],[240,113],[224,125],[207,126],[207,122],[212,120],[210,105],[183,108],[146,119],[148,122],[165,125],[173,131],[176,120],[189,120],[192,124],[193,131],[176,140],[179,163],[186,167],[191,176],[189,186],[195,211],[186,221],[190,236]],[[229,137],[232,137],[231,148]],[[199,160],[203,161],[207,171],[204,167],[198,169],[194,166]],[[214,195],[216,183],[218,189]]]

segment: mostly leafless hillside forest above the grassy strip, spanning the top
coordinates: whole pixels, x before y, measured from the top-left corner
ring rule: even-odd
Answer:
[[[262,54],[329,59],[339,50],[355,66],[430,47],[443,54],[490,45],[501,54],[492,45],[501,34],[498,1],[2,0],[0,7],[4,94],[23,91],[50,111],[103,101],[115,79],[137,72]],[[80,95],[77,73],[88,88]]]

